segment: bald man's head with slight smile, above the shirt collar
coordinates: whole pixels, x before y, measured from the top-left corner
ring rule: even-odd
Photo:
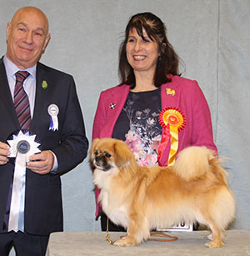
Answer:
[[[33,67],[50,39],[47,30],[47,18],[42,12],[20,9],[7,23],[7,58],[20,69]]]

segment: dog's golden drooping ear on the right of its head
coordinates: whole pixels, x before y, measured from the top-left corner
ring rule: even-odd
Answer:
[[[115,164],[118,168],[128,166],[133,160],[133,153],[128,145],[122,141],[117,141],[113,145],[115,153]]]

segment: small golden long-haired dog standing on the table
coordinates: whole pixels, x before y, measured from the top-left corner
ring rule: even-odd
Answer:
[[[185,148],[169,167],[138,166],[128,145],[114,138],[96,138],[89,153],[102,210],[128,228],[115,245],[138,245],[153,228],[196,221],[212,231],[208,247],[223,245],[224,231],[235,218],[235,200],[212,150]]]

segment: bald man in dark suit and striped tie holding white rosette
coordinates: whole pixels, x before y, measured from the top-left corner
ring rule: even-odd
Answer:
[[[38,62],[49,40],[38,8],[21,8],[7,23],[7,53],[0,59],[1,256],[12,247],[21,256],[45,254],[49,234],[62,231],[60,173],[87,155],[72,76]]]

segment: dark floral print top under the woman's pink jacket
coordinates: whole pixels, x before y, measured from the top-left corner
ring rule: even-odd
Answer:
[[[161,88],[130,92],[113,128],[112,138],[125,141],[141,166],[158,164],[158,146],[162,139],[162,127],[158,122],[161,105]]]

